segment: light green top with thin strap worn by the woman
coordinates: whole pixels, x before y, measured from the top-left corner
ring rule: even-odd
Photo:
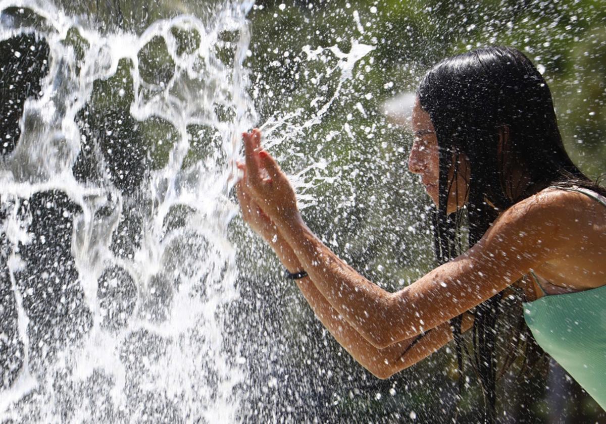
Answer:
[[[593,191],[567,190],[606,206],[606,199]],[[524,319],[539,346],[606,409],[606,285],[524,303]]]

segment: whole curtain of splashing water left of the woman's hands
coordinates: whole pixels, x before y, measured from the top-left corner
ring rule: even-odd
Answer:
[[[47,48],[0,162],[0,420],[235,421],[245,359],[224,352],[222,310],[238,296],[238,134],[255,121],[250,7],[102,33],[46,2],[0,3],[2,40],[35,35],[15,58]],[[168,68],[146,78],[158,44]]]

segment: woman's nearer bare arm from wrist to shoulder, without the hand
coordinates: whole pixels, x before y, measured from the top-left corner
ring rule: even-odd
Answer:
[[[561,209],[555,213],[566,207],[556,197],[541,205],[529,199],[505,211],[467,253],[396,293],[345,264],[301,219],[276,224],[322,296],[371,345],[386,348],[470,310],[558,256],[578,224]]]

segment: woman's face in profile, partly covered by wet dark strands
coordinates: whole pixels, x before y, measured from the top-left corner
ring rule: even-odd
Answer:
[[[419,99],[415,101],[415,107],[412,113],[412,127],[415,135],[413,148],[408,157],[408,169],[410,172],[419,174],[421,182],[425,186],[425,191],[431,197],[431,200],[438,205],[438,181],[440,176],[438,137],[429,118],[429,114],[421,108]],[[459,170],[457,173],[458,190],[451,190],[448,194],[447,213],[457,210],[458,206],[464,205],[467,201],[467,181],[469,175],[469,166],[467,158],[459,157]],[[451,181],[454,174],[454,167],[448,172],[448,181]],[[453,184],[454,186],[454,184]],[[457,198],[457,193],[458,197]]]

